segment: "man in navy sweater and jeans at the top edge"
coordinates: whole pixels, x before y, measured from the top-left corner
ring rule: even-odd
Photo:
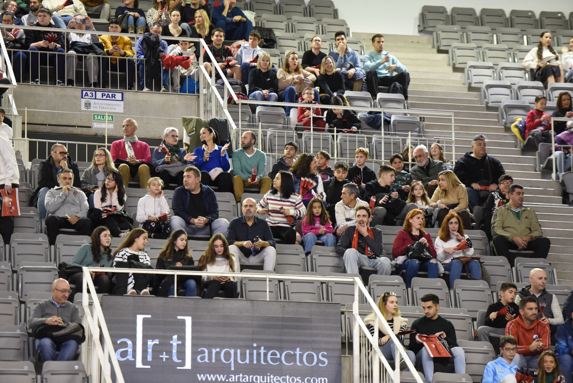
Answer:
[[[253,30],[253,23],[246,17],[241,9],[235,6],[237,0],[225,0],[223,5],[213,8],[213,23],[215,28],[225,31],[227,40],[249,41],[249,34]],[[246,81],[243,79],[243,81]]]

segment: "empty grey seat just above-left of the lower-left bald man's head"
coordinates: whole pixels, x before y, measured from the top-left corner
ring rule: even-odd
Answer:
[[[28,300],[28,294],[32,291],[52,291],[52,282],[58,279],[56,265],[49,262],[22,262],[16,274],[18,294],[20,300],[24,302]]]

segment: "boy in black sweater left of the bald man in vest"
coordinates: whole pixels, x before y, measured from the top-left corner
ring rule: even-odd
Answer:
[[[516,293],[517,286],[515,286],[515,283],[504,282],[501,284],[501,299],[488,306],[488,311],[485,313],[484,326],[480,326],[477,329],[478,341],[489,342],[489,335],[491,334],[505,335],[505,326],[519,314],[519,306],[513,302]]]

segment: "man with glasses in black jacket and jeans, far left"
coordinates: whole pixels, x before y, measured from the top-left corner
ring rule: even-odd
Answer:
[[[38,167],[38,188],[36,192],[34,192],[34,195],[37,196],[40,218],[46,218],[46,193],[48,193],[50,189],[60,185],[58,182],[58,173],[65,168],[73,171],[73,186],[80,189],[80,169],[76,163],[72,162],[72,159],[68,155],[68,150],[64,145],[53,144],[50,150],[50,157],[40,162],[40,167]],[[34,196],[32,200],[34,200]]]

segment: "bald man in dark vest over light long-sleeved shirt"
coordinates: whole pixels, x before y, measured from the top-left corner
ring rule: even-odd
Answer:
[[[551,342],[555,344],[555,334],[557,325],[563,323],[563,313],[559,306],[559,301],[555,294],[545,290],[547,284],[547,274],[542,269],[532,269],[529,272],[529,285],[517,292],[515,303],[526,296],[533,296],[537,299],[537,317],[541,321],[548,323],[551,330]]]

